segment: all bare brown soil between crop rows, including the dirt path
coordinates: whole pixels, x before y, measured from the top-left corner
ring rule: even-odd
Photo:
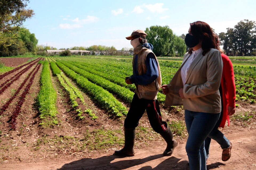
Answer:
[[[24,59],[24,58],[23,58]],[[20,58],[10,58],[1,60],[6,66],[14,64],[21,65]],[[0,169],[2,170],[45,170],[45,169],[68,169],[68,170],[89,170],[89,169],[189,169],[185,150],[186,135],[176,136],[178,146],[173,155],[163,156],[166,143],[159,134],[150,130],[150,124],[146,114],[141,118],[140,127],[146,128],[148,133],[142,133],[139,127],[136,128],[135,156],[120,157],[113,155],[114,150],[122,146],[106,146],[99,150],[82,150],[77,145],[83,143],[85,134],[93,133],[95,129],[121,130],[123,132],[124,118],[115,119],[108,113],[100,109],[88,96],[85,97],[85,105],[79,100],[79,107],[82,110],[90,108],[98,119],[91,120],[86,116],[83,120],[76,118],[76,112],[70,106],[67,94],[59,85],[58,80],[53,77],[54,88],[57,91],[58,119],[61,123],[58,126],[42,128],[39,126],[38,111],[36,107],[36,96],[39,92],[39,80],[41,69],[37,73],[34,82],[22,105],[22,112],[17,118],[16,130],[11,130],[8,120],[17,99],[13,101],[11,107],[0,116]],[[17,72],[16,72],[17,73]],[[29,71],[27,71],[29,73]],[[10,98],[13,91],[25,79],[26,74],[12,84],[5,93],[0,96],[0,107]],[[8,75],[6,79],[15,73]],[[4,80],[0,80],[0,84]],[[75,85],[75,84],[74,84]],[[22,92],[22,90],[21,90]],[[207,169],[256,169],[256,104],[249,104],[244,101],[237,101],[239,107],[235,114],[247,113],[253,116],[249,120],[236,117],[231,119],[231,125],[221,129],[225,136],[233,144],[231,158],[227,162],[221,160],[222,149],[217,142],[212,141],[210,146],[210,158],[207,162]],[[125,104],[127,107],[129,105]],[[162,119],[164,121],[184,121],[184,111],[177,108],[166,108],[161,106]],[[120,133],[116,134],[123,138]],[[62,137],[73,137],[64,140]],[[63,139],[63,140],[60,140]],[[81,139],[81,141],[79,140]],[[46,141],[46,142],[45,142]]]

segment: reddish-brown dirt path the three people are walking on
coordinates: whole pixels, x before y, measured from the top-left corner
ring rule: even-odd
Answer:
[[[232,141],[233,149],[229,161],[221,160],[221,148],[218,143],[213,141],[210,148],[210,158],[207,163],[207,169],[229,169],[243,170],[256,169],[256,129],[244,131],[232,131],[226,133],[226,136]],[[100,155],[98,158],[83,158],[66,160],[42,160],[42,162],[33,163],[2,163],[0,169],[22,169],[22,170],[147,170],[147,169],[189,169],[187,164],[187,155],[185,151],[186,143],[179,143],[172,156],[162,156],[165,148],[162,146],[148,147],[141,150],[135,150],[133,157],[119,157],[112,153]]]

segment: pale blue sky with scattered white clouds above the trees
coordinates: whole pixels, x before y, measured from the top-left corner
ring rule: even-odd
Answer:
[[[152,25],[168,25],[180,36],[187,33],[189,23],[198,20],[216,33],[234,28],[244,19],[256,21],[255,0],[30,0],[27,7],[35,15],[23,26],[35,34],[39,45],[47,43],[57,49],[91,45],[131,48],[125,37]]]

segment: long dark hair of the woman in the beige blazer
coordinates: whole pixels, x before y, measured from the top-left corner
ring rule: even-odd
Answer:
[[[215,39],[213,36],[213,30],[210,25],[202,22],[196,21],[190,23],[191,34],[199,39],[202,44],[203,56],[210,51],[211,48],[216,48]],[[189,54],[192,53],[192,48],[189,50]]]

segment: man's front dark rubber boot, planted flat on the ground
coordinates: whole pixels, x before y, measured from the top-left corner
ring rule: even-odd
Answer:
[[[134,156],[135,143],[135,129],[125,129],[125,146],[118,151],[115,151],[115,155],[121,156]]]

